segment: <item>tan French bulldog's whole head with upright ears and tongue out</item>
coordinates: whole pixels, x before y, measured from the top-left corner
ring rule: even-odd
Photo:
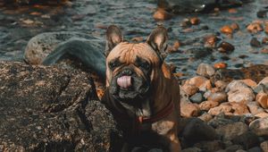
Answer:
[[[129,43],[118,27],[110,26],[106,38],[106,87],[121,102],[142,101],[161,72],[167,30],[159,26],[147,42]]]

